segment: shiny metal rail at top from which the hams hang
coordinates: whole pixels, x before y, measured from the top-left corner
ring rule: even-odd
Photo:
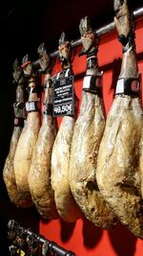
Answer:
[[[140,9],[137,9],[133,12],[134,18],[137,19],[141,16],[143,16],[143,7]],[[101,36],[101,35],[105,35],[107,33],[112,32],[115,29],[115,24],[114,21],[112,21],[111,23],[109,23],[106,26],[103,26],[101,28],[99,28],[98,30],[96,30],[96,35],[97,36]],[[81,40],[77,39],[75,41],[72,42],[72,48],[73,47],[78,47],[81,45]],[[51,53],[51,58],[54,58],[58,55],[58,51],[55,51],[53,53]]]

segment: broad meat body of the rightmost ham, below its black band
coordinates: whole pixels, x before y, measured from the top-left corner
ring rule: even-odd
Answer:
[[[100,192],[135,236],[143,238],[139,141],[143,125],[138,98],[116,96],[100,145],[96,178]]]

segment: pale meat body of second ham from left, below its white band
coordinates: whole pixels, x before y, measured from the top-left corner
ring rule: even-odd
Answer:
[[[31,167],[32,151],[35,147],[40,128],[39,112],[30,112],[18,141],[14,155],[14,174],[19,193],[26,199],[31,198],[28,174]]]

